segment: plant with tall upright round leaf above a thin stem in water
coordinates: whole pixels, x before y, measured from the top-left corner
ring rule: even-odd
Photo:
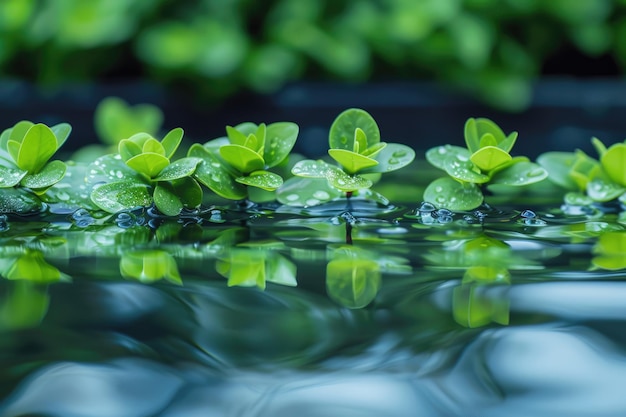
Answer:
[[[312,205],[306,204],[311,200],[308,195],[310,185],[305,179],[310,178],[324,178],[332,189],[349,197],[355,191],[370,188],[380,174],[400,169],[415,159],[415,152],[410,147],[381,142],[378,124],[362,109],[348,109],[339,114],[330,127],[328,143],[328,154],[337,165],[323,160],[299,161],[291,172],[304,178],[294,179],[289,195],[279,194],[279,201],[293,205],[302,201],[304,205]],[[298,187],[298,184],[304,186]],[[300,194],[305,197],[300,198]]]

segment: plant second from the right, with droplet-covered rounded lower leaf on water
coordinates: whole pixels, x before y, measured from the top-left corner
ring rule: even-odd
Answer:
[[[426,159],[448,176],[431,182],[424,200],[450,210],[471,210],[483,203],[481,187],[493,191],[518,187],[545,179],[547,171],[523,156],[510,151],[517,132],[505,135],[489,119],[470,118],[465,123],[466,148],[443,145],[429,149]]]

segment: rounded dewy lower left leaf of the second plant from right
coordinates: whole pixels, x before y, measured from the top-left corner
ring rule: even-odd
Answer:
[[[483,198],[476,184],[449,177],[434,180],[424,190],[424,201],[454,211],[475,209],[482,204]]]

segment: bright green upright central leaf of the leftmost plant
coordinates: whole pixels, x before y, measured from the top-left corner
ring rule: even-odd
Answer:
[[[36,174],[57,150],[57,139],[44,124],[33,125],[22,139],[20,151],[15,161],[20,169]]]

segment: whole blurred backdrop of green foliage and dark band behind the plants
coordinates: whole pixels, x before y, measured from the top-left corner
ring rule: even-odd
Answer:
[[[362,107],[384,139],[462,144],[467,117],[518,130],[514,153],[626,137],[626,0],[2,0],[0,128],[95,141],[115,95],[194,140],[289,120],[301,152]]]

